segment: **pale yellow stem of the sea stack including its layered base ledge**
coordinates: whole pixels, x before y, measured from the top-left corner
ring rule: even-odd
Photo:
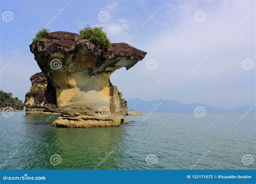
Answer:
[[[65,63],[62,68],[50,70],[51,80],[56,87],[57,104],[65,115],[52,125],[67,127],[117,126],[123,117],[120,108],[119,92],[110,86],[109,78],[113,71],[91,75],[95,58],[82,47],[76,54],[64,60],[64,55],[53,54],[52,59]],[[112,93],[110,91],[112,89]],[[118,98],[118,99],[116,99]],[[89,116],[89,118],[82,118]],[[75,120],[70,120],[76,117]]]

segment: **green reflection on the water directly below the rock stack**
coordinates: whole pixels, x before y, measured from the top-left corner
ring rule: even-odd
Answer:
[[[116,167],[115,157],[112,157],[112,154],[122,153],[117,150],[119,149],[118,144],[123,139],[124,131],[119,127],[58,129],[51,142],[65,165],[60,164],[57,168],[94,169],[110,152],[111,155],[104,161],[104,164],[97,167],[99,169]]]

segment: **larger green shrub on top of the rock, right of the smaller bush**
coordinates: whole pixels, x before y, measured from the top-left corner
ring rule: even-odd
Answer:
[[[82,39],[87,39],[93,44],[99,45],[99,47],[102,49],[109,49],[111,47],[110,40],[103,31],[103,27],[90,27],[87,25],[87,27],[80,30],[79,33]]]

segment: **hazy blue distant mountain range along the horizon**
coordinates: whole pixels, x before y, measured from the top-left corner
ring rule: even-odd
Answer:
[[[154,109],[154,112],[194,112],[194,109],[203,107],[206,112],[256,112],[256,104],[242,105],[241,107],[234,109],[224,109],[211,107],[209,105],[201,103],[183,104],[174,100],[152,100],[145,101],[140,98],[131,99],[127,102],[128,109],[133,109],[139,112],[150,112]],[[250,110],[251,108],[251,110]]]

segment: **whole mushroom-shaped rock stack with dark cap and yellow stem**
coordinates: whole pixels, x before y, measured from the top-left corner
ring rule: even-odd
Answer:
[[[122,67],[130,69],[146,55],[125,43],[112,44],[103,51],[69,32],[52,32],[48,39],[33,42],[30,51],[43,72],[37,75],[46,90],[44,98],[41,91],[27,93],[27,107],[51,112],[57,109],[61,116],[53,126],[86,128],[121,123],[127,105],[122,93],[110,82],[110,75]],[[32,82],[33,85],[39,84]]]

